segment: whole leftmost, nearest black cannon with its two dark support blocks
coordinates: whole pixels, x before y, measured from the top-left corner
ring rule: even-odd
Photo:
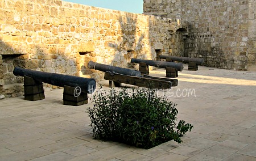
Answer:
[[[47,73],[15,67],[13,74],[24,77],[25,100],[44,99],[43,83],[64,87],[63,100],[65,105],[81,105],[88,103],[87,94],[96,89],[96,81],[72,75]]]

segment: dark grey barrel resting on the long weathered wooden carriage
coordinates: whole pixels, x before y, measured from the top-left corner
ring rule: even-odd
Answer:
[[[105,65],[102,63],[97,63],[93,61],[89,61],[88,63],[89,69],[96,69],[100,71],[114,71],[115,73],[118,74],[123,74],[123,75],[129,75],[129,76],[134,76],[134,77],[142,77],[141,71],[137,70],[131,70],[131,69],[126,69],[123,67],[117,67],[117,66],[111,66],[111,65]]]

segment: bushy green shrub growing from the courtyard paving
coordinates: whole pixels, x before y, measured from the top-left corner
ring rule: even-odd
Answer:
[[[180,137],[193,128],[183,120],[176,125],[176,104],[151,89],[105,92],[101,87],[93,102],[88,113],[97,139],[149,149],[172,139],[181,143]]]

